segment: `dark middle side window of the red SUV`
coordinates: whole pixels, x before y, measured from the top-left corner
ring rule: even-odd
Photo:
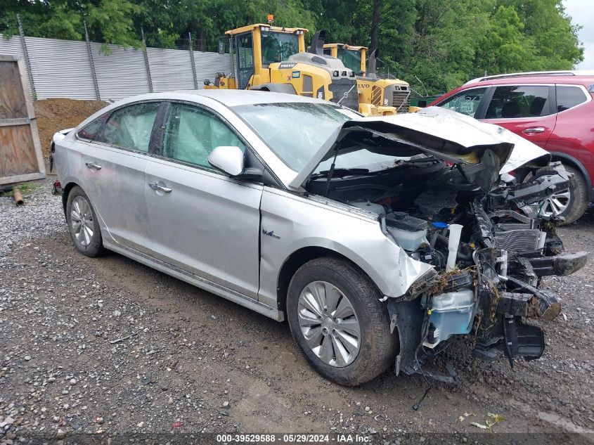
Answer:
[[[514,119],[550,114],[548,86],[498,86],[486,108],[485,119]]]

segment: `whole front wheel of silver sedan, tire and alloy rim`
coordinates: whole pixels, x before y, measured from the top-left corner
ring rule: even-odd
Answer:
[[[373,380],[394,364],[396,335],[390,333],[381,297],[364,273],[341,259],[313,259],[297,270],[288,289],[287,318],[295,342],[314,370],[339,385],[355,386]],[[322,310],[321,316],[316,316],[311,309],[316,302],[321,303],[318,308],[327,307],[325,314]],[[355,323],[359,323],[358,338],[351,335],[356,333]],[[344,351],[349,352],[347,359]]]

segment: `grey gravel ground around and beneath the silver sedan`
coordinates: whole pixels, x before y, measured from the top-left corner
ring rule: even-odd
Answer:
[[[77,254],[50,183],[23,207],[0,198],[2,445],[199,432],[359,432],[379,444],[447,432],[464,443],[487,413],[504,418],[493,432],[593,430],[592,262],[545,280],[563,314],[544,325],[540,360],[513,370],[474,361],[470,342],[456,340],[431,365],[453,362],[463,382],[434,383],[414,411],[418,376],[334,385],[307,366],[286,323],[118,254]],[[567,250],[592,250],[592,209],[560,235]]]

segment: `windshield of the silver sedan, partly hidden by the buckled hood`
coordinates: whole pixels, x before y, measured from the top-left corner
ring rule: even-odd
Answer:
[[[278,157],[299,172],[338,127],[360,116],[327,103],[259,103],[233,110],[256,131]],[[366,168],[377,171],[392,167],[403,158],[378,155],[366,149],[341,153],[336,168]],[[332,159],[318,165],[316,172],[328,170]]]

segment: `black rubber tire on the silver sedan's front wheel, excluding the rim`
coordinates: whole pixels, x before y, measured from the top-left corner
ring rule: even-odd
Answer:
[[[342,297],[338,301],[342,302],[342,298],[347,297],[347,302],[351,304],[350,309],[354,312],[356,321],[359,321],[359,350],[355,358],[346,366],[332,365],[323,361],[314,352],[316,348],[312,348],[308,344],[305,334],[302,332],[302,326],[299,324],[299,316],[303,314],[303,312],[299,313],[299,304],[302,304],[300,298],[304,295],[303,292],[309,289],[309,286],[316,285],[316,283],[318,285],[330,284],[338,292],[342,292]],[[324,295],[326,295],[328,288],[324,289]],[[373,380],[394,363],[397,336],[390,333],[388,312],[385,304],[380,302],[381,297],[382,295],[375,288],[373,282],[362,271],[342,259],[331,257],[313,259],[297,270],[288,289],[287,318],[295,342],[314,370],[339,385],[355,386]],[[330,299],[324,297],[324,302],[324,307],[332,307]],[[340,306],[341,304],[338,304],[338,307]],[[302,305],[302,311],[303,308]],[[337,314],[338,311],[339,309],[336,309],[333,314]],[[330,314],[330,309],[328,309],[328,314]],[[318,316],[318,319],[321,320],[322,317]],[[337,318],[332,319],[337,320]],[[344,318],[342,321],[339,319],[339,322],[344,323]],[[321,329],[322,326],[324,325],[320,325]],[[333,326],[340,334],[340,324]],[[332,337],[337,337],[336,330],[332,329]],[[329,336],[330,333],[328,333]],[[323,339],[323,337],[321,338]],[[340,345],[335,346],[335,339],[331,341],[332,350],[335,352],[335,356],[338,356],[336,350],[340,349]],[[322,348],[323,345],[317,347],[318,352]]]

